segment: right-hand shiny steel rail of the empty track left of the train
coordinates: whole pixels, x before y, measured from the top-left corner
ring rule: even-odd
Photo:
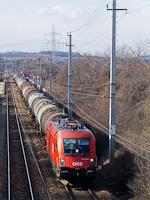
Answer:
[[[25,154],[25,149],[24,149],[24,144],[23,144],[23,139],[22,139],[22,134],[21,134],[21,129],[20,129],[20,125],[19,125],[18,112],[17,112],[17,109],[16,109],[16,103],[15,103],[15,99],[14,99],[14,95],[13,95],[13,92],[12,92],[11,85],[10,85],[10,88],[11,88],[11,93],[12,93],[12,98],[13,98],[14,110],[15,110],[16,121],[17,121],[17,126],[18,126],[18,131],[19,131],[20,142],[21,142],[21,148],[22,148],[26,172],[27,172],[27,178],[28,178],[28,183],[29,183],[29,188],[30,188],[31,199],[34,200],[32,184],[31,184],[31,179],[30,179],[30,174],[29,174],[29,169],[28,169],[28,164],[27,164],[27,159],[26,159],[26,154]]]

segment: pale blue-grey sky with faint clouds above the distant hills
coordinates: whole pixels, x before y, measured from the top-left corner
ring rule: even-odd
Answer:
[[[68,51],[67,32],[72,32],[73,51],[99,53],[110,49],[113,0],[1,0],[0,52],[47,50],[54,24],[57,50]],[[117,46],[135,47],[150,38],[150,0],[117,0]],[[49,48],[52,49],[50,43]]]

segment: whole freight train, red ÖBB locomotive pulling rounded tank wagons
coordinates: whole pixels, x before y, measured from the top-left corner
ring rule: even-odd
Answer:
[[[69,118],[26,79],[15,74],[14,80],[45,135],[48,155],[57,177],[95,177],[96,142],[91,131]]]

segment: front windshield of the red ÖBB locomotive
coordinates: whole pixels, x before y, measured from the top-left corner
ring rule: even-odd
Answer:
[[[88,156],[90,154],[90,139],[64,139],[65,156]]]

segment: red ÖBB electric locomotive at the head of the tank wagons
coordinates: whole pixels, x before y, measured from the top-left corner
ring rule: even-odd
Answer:
[[[59,118],[47,126],[47,150],[56,175],[95,177],[95,138],[78,121]]]

